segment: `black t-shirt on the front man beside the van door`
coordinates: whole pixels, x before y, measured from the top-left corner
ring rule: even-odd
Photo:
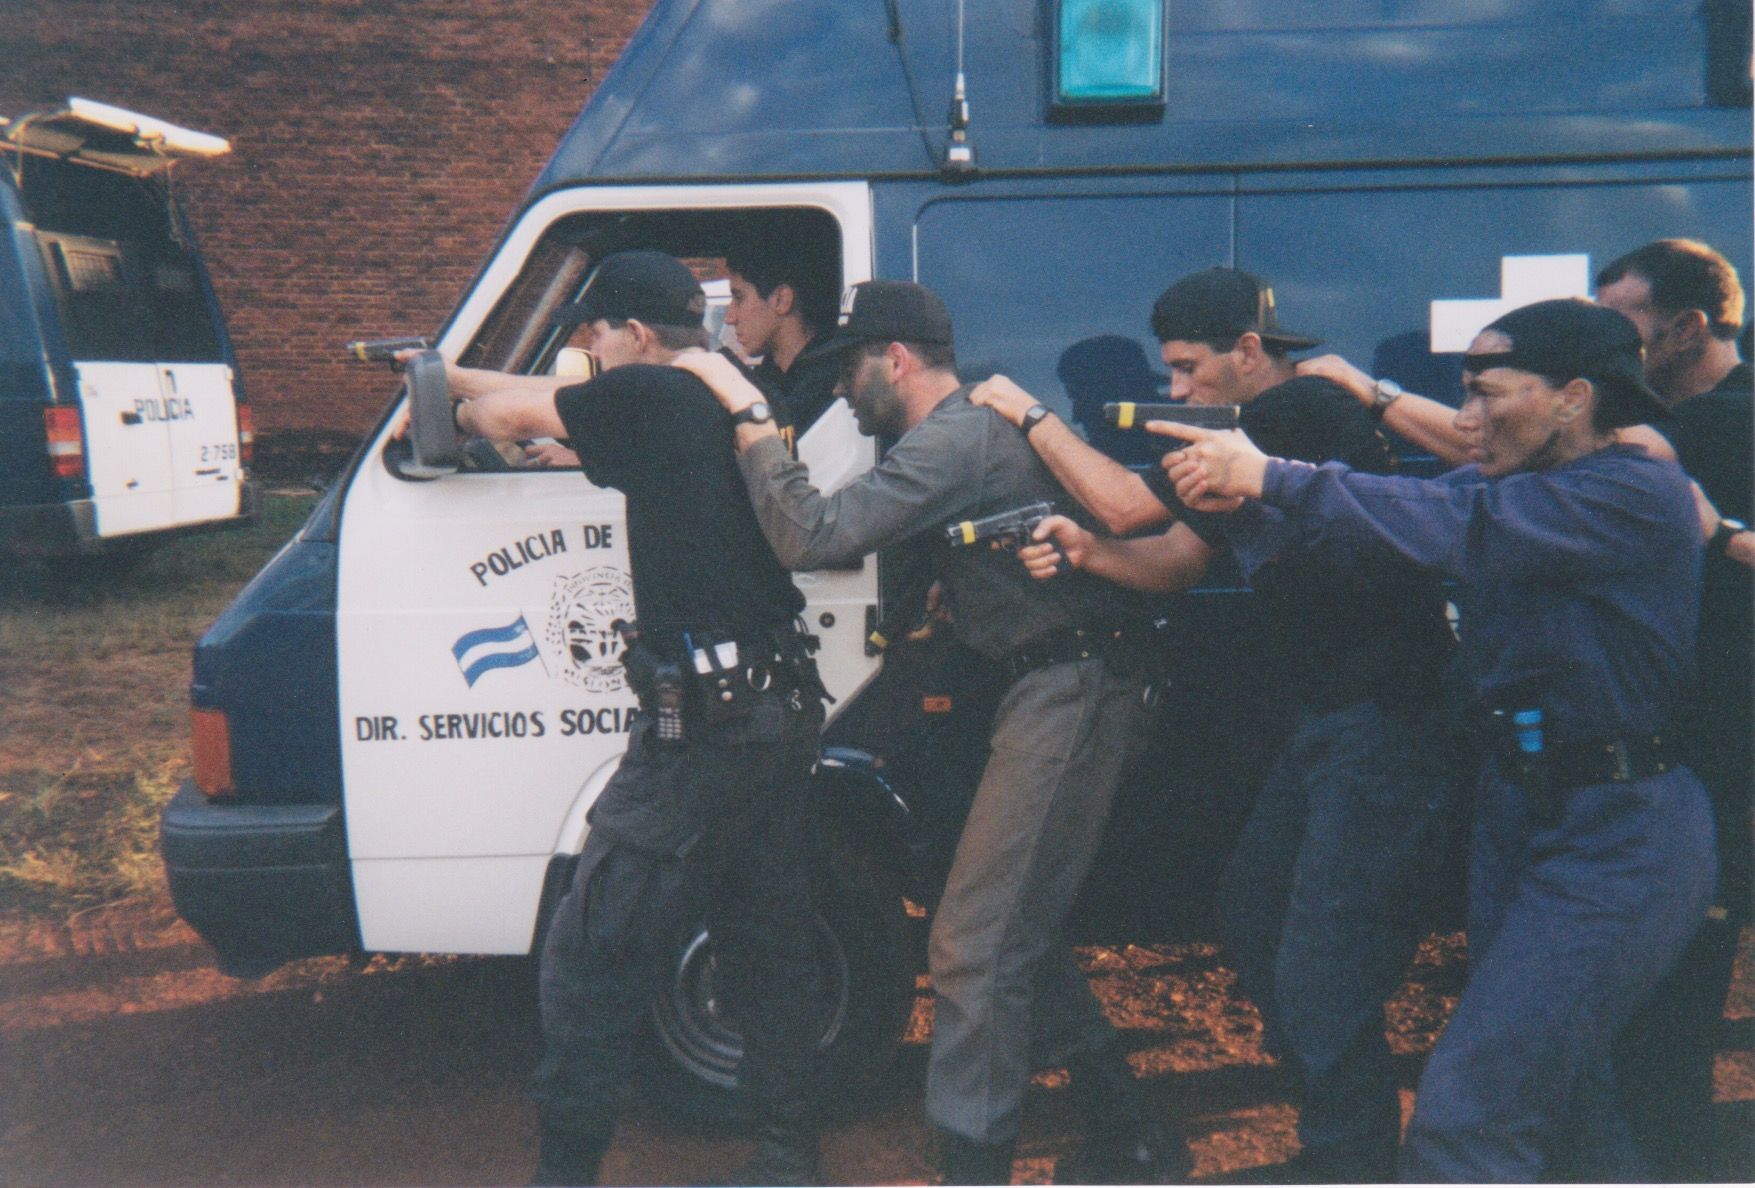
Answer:
[[[586,477],[628,497],[634,607],[651,642],[683,630],[749,637],[804,609],[749,507],[732,419],[706,384],[634,363],[562,388],[555,411]]]

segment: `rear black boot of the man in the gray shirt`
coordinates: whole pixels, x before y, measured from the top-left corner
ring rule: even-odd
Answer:
[[[1057,1184],[1179,1184],[1195,1156],[1169,1123],[1153,1116],[1120,1044],[1069,1065],[1072,1102],[1085,1116],[1085,1144],[1055,1162]]]

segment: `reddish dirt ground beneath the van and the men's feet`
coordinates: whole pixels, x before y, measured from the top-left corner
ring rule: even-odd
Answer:
[[[1702,1153],[1702,1179],[1755,1174],[1751,942],[1744,934],[1718,1058],[1722,1142]],[[1197,1181],[1246,1183],[1295,1151],[1292,1086],[1211,946],[1083,958],[1135,1072],[1188,1127]],[[1404,1113],[1462,969],[1460,939],[1434,937],[1392,1004]],[[67,925],[0,918],[0,1183],[525,1183],[532,997],[528,965],[511,960],[319,958],[235,981],[163,902]],[[830,1183],[927,1183],[928,1034],[921,993],[897,1065],[830,1127]],[[1064,1079],[1037,1077],[1014,1177],[1048,1183],[1076,1141]],[[691,1183],[746,1155],[735,1135],[644,1104],[604,1172],[607,1183]]]

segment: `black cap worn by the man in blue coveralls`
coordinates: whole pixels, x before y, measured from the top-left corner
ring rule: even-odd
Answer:
[[[1622,428],[1669,418],[1669,409],[1644,381],[1639,328],[1608,305],[1564,297],[1513,309],[1481,333],[1511,339],[1508,351],[1471,351],[1462,370],[1513,367],[1564,384],[1588,379],[1597,388],[1597,425]]]

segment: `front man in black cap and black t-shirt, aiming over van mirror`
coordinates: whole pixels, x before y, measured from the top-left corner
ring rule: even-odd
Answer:
[[[590,328],[600,376],[484,390],[491,374],[469,372],[455,393],[460,430],[569,437],[586,477],[623,491],[628,509],[637,635],[625,635],[623,665],[641,716],[542,944],[541,1184],[595,1183],[669,944],[700,914],[762,1128],[732,1183],[820,1183],[806,791],[823,690],[797,628],[804,598],[732,453],[737,419],[772,416],[756,404],[728,418],[700,381],[665,367],[707,356],[704,311],[683,263],[618,253],[570,312]]]

